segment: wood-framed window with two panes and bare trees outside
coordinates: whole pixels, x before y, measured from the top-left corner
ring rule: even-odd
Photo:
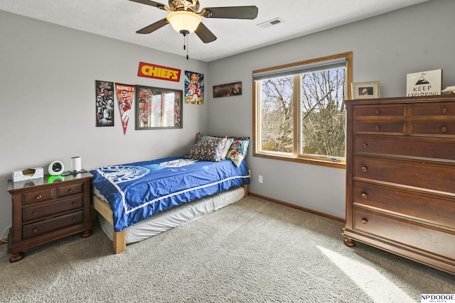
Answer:
[[[253,71],[254,155],[344,167],[352,53]]]

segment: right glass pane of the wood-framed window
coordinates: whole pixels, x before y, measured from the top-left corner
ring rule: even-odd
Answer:
[[[301,75],[301,154],[345,156],[344,96],[345,68]]]

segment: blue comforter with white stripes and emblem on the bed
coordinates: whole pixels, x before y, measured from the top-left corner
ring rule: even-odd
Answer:
[[[245,161],[181,157],[111,165],[90,171],[92,185],[109,202],[114,231],[186,202],[250,184]]]

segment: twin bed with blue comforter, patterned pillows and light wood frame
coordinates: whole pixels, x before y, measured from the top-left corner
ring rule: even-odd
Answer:
[[[198,133],[188,155],[91,170],[92,204],[114,253],[245,197],[248,142]]]

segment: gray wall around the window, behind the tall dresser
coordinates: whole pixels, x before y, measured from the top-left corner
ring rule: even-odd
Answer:
[[[405,96],[412,72],[441,68],[443,88],[454,85],[454,12],[455,1],[433,0],[210,62],[212,84],[242,81],[242,96],[210,102],[210,132],[252,136],[253,70],[336,53],[353,51],[353,82],[380,81],[381,97]],[[345,170],[252,157],[252,148],[247,163],[250,192],[344,218]]]

